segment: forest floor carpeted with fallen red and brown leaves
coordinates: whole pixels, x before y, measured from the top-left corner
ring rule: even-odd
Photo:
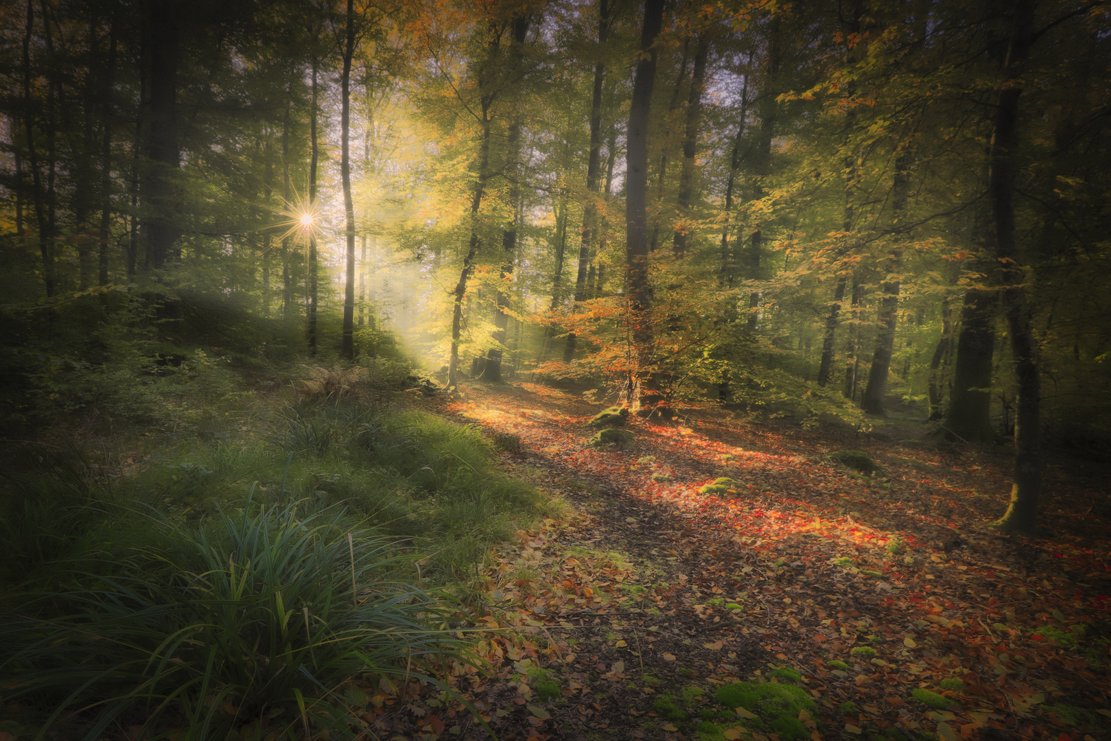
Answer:
[[[1053,534],[1031,540],[985,527],[1008,449],[922,443],[905,408],[869,433],[682,408],[630,417],[619,449],[588,444],[603,404],[582,394],[472,383],[434,403],[517,435],[506,467],[571,505],[496,555],[487,667],[451,670],[503,741],[1111,738],[1105,464],[1050,459]],[[719,477],[728,498],[698,493]],[[718,701],[792,681],[805,699]],[[371,699],[380,738],[486,737],[427,688]]]

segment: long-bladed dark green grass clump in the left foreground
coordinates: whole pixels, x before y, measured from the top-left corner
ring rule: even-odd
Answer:
[[[152,518],[154,542],[86,562],[71,588],[10,594],[0,700],[38,739],[350,735],[347,685],[429,679],[461,642],[431,627],[441,598],[394,579],[392,540],[306,508],[249,497],[192,529]]]

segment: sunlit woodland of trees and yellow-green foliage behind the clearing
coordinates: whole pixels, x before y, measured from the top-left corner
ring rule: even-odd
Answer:
[[[1104,2],[2,13],[12,437],[407,357],[1105,455]]]

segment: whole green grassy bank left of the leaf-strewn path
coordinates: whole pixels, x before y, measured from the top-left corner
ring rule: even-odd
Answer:
[[[158,422],[4,469],[4,728],[346,735],[359,684],[437,682],[462,645],[436,628],[450,594],[479,599],[490,548],[550,508],[478,430],[370,399],[362,373],[310,381],[208,409],[203,437]]]

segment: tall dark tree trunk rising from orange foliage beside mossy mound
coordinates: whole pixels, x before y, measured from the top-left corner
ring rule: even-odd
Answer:
[[[640,407],[641,380],[652,366],[652,287],[648,274],[648,127],[655,81],[655,39],[663,24],[663,0],[644,0],[644,24],[633,79],[625,144],[625,267],[629,286],[633,368],[625,398]]]

